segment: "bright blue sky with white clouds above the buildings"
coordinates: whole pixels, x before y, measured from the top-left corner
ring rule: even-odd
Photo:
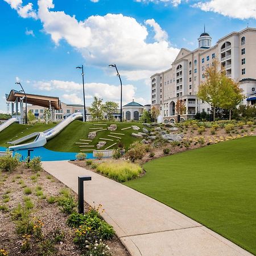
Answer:
[[[212,45],[222,36],[256,27],[256,0],[0,0],[0,113],[5,94],[20,90],[150,104],[150,76],[171,67],[180,48],[197,48],[204,30]]]

